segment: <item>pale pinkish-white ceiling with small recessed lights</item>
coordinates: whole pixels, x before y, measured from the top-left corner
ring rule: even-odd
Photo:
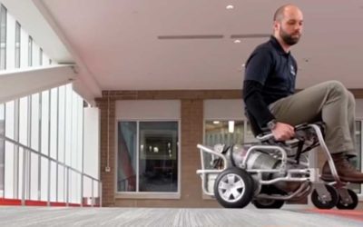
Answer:
[[[102,90],[240,89],[281,0],[41,0]],[[363,1],[290,1],[304,14],[297,87],[363,87]],[[227,5],[234,9],[227,10]],[[49,19],[49,18],[48,18]],[[233,38],[231,38],[231,35]],[[234,37],[241,37],[235,44]]]

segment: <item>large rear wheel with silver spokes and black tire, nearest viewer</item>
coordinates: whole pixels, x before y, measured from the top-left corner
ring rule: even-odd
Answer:
[[[253,197],[253,179],[246,171],[232,167],[221,172],[214,183],[214,196],[225,208],[243,208]]]

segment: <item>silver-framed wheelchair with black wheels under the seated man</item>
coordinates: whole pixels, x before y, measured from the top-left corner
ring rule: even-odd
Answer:
[[[295,127],[295,138],[278,142],[250,115],[249,120],[255,143],[197,145],[201,152],[197,174],[205,194],[225,208],[243,208],[251,202],[260,209],[280,209],[285,202],[307,196],[319,209],[357,207],[356,192],[340,181],[324,142],[324,123],[300,124]],[[322,181],[319,169],[309,167],[308,153],[318,146],[328,160],[334,182]]]

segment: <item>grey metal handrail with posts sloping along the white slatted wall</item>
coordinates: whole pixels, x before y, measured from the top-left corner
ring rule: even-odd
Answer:
[[[92,189],[92,198],[95,198],[93,196],[93,181],[99,183],[100,207],[102,206],[102,182],[100,180],[94,178],[93,176],[91,176],[89,174],[82,173],[81,171],[79,171],[79,170],[75,169],[74,167],[69,166],[69,165],[67,165],[65,163],[60,163],[59,161],[55,160],[54,158],[52,158],[50,156],[45,155],[44,153],[39,153],[39,152],[35,151],[33,148],[31,148],[31,147],[25,146],[22,143],[19,143],[19,142],[13,140],[13,139],[10,139],[10,138],[6,137],[4,134],[1,134],[0,133],[0,139],[3,139],[3,140],[5,140],[6,142],[9,142],[9,143],[14,143],[15,146],[18,146],[18,147],[23,148],[24,151],[29,151],[29,152],[34,153],[36,155],[40,155],[41,157],[44,157],[48,161],[51,161],[51,162],[54,162],[54,163],[56,163],[58,165],[63,166],[64,169],[66,170],[66,173],[65,174],[66,174],[68,180],[69,180],[69,170],[73,171],[74,173],[81,174],[82,179],[83,179],[83,177],[89,178],[91,180],[91,183],[92,183],[92,188],[91,188]],[[19,153],[20,150],[17,150],[17,152]],[[25,162],[25,159],[24,159],[24,162]],[[25,170],[25,166],[24,166],[24,170]],[[23,174],[23,177],[25,177],[25,174]],[[82,180],[82,183],[83,183],[83,180]],[[23,184],[23,185],[25,185],[25,184]],[[25,187],[25,186],[23,186],[23,187]],[[69,198],[68,198],[69,197],[68,196],[69,195],[69,183],[67,183],[66,194],[67,194],[67,196],[66,196],[67,197],[66,198],[66,204],[68,205],[68,203],[69,203]],[[82,192],[82,194],[83,194],[83,192]],[[81,198],[81,205],[83,205],[83,201],[82,200],[83,200],[83,196]],[[23,201],[22,204],[25,204],[25,198],[22,198],[22,201]],[[49,202],[48,202],[48,204],[49,204]],[[93,206],[93,200],[92,200],[91,206]]]

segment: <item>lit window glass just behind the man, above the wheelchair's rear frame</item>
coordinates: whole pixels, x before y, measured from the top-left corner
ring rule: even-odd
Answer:
[[[244,143],[243,121],[206,121],[204,141],[208,146],[221,143],[226,145]]]

